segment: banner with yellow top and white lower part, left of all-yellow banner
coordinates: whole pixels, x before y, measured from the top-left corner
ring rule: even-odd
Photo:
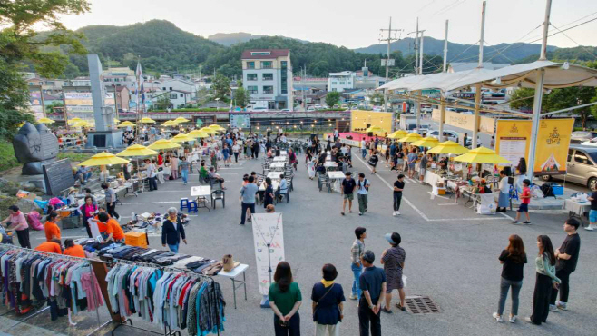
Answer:
[[[495,152],[516,166],[521,157],[528,159],[533,123],[530,120],[498,120]]]

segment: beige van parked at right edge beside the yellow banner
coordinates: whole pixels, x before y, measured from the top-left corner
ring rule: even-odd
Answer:
[[[565,175],[543,175],[544,181],[552,179],[586,185],[593,190],[597,185],[597,148],[579,145],[570,146]]]

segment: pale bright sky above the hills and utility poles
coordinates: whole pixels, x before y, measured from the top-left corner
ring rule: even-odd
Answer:
[[[207,37],[245,32],[283,35],[311,42],[365,47],[377,44],[380,28],[403,29],[393,37],[416,30],[416,17],[425,35],[475,44],[480,39],[482,0],[301,0],[301,1],[191,1],[91,0],[84,15],[65,15],[70,29],[85,25],[132,25],[152,19],[171,21],[182,30]],[[486,45],[514,42],[541,43],[546,0],[487,0]],[[559,29],[597,18],[595,0],[553,0],[551,23]],[[578,21],[577,21],[578,20]],[[535,29],[536,28],[536,29]],[[548,44],[559,47],[597,46],[597,20],[554,35]],[[557,30],[550,26],[550,34]],[[410,35],[412,36],[412,34]]]

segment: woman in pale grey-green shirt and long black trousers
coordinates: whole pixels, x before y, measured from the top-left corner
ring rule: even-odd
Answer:
[[[547,321],[552,288],[557,288],[561,281],[555,275],[555,254],[552,241],[548,236],[540,235],[537,237],[537,247],[539,255],[534,261],[537,280],[533,292],[533,314],[531,317],[525,317],[524,321],[541,325]]]

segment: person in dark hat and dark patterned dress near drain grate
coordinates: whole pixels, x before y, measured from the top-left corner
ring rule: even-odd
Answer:
[[[388,314],[392,313],[392,291],[398,290],[400,303],[396,303],[396,307],[401,311],[406,311],[404,282],[402,282],[402,270],[405,267],[406,252],[400,247],[402,238],[398,232],[386,234],[386,240],[390,243],[390,248],[381,254],[381,262],[384,265],[384,272],[386,272],[386,307],[382,308]]]

